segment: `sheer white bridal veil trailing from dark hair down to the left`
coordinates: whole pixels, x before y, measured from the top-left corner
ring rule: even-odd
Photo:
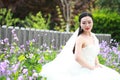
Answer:
[[[40,75],[42,76],[50,76],[58,72],[64,72],[64,70],[69,68],[72,61],[74,61],[73,47],[75,45],[75,41],[78,35],[79,28],[73,33],[70,39],[66,42],[66,45],[63,47],[62,51],[57,55],[57,57],[43,65],[42,71]]]

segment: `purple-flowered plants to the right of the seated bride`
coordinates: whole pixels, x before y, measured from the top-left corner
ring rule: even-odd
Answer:
[[[120,50],[118,42],[113,39],[111,39],[110,43],[102,41],[100,43],[99,60],[100,63],[120,72]]]

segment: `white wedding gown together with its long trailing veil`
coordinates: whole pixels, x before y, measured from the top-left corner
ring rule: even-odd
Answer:
[[[120,74],[102,65],[102,68],[89,70],[82,67],[74,59],[72,52],[78,30],[69,39],[62,52],[51,62],[45,64],[40,75],[47,80],[120,80]],[[99,53],[98,39],[92,33],[95,45],[88,45],[82,49],[83,58],[91,65],[95,65],[95,57]]]

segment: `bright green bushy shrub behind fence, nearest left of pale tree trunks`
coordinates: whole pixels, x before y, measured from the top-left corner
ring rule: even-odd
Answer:
[[[50,15],[48,15],[47,20],[42,16],[41,12],[36,15],[30,13],[25,17],[24,27],[31,27],[36,29],[46,29],[49,30]]]

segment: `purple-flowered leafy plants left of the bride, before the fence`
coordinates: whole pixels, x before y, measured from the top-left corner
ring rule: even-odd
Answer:
[[[24,45],[18,45],[19,41],[12,30],[13,43],[9,43],[9,39],[0,40],[3,47],[0,50],[0,80],[33,80],[41,79],[38,73],[42,69],[45,59],[54,58],[49,50],[40,51],[35,47],[36,39],[26,41]],[[52,56],[52,57],[51,57]]]

